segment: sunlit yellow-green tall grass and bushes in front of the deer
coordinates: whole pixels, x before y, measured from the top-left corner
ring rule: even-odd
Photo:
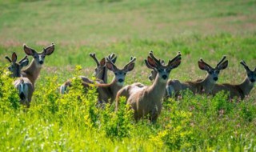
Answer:
[[[69,94],[58,94],[55,78],[34,93],[29,110],[1,67],[0,150],[256,150],[254,98],[228,102],[226,94],[194,96],[190,92],[163,102],[155,125],[135,123],[133,111],[121,102],[97,105],[95,90],[84,93],[74,80]],[[78,73],[74,74],[77,76]]]

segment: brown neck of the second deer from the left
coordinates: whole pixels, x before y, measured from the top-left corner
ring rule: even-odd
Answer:
[[[42,69],[42,65],[39,65],[34,61],[34,58],[32,62],[30,63],[30,66],[28,66],[25,70],[22,70],[22,76],[29,78],[30,82],[34,86],[34,82],[38,78],[38,75],[40,74],[40,70]]]

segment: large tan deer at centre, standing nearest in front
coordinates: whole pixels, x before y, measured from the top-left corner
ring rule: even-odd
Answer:
[[[181,63],[181,54],[170,60],[167,65],[154,57],[152,51],[150,56],[145,60],[150,69],[157,71],[156,78],[151,86],[144,86],[141,83],[134,83],[118,91],[116,97],[116,110],[118,110],[119,98],[125,96],[127,104],[130,104],[134,110],[134,118],[138,121],[140,118],[149,116],[150,122],[156,122],[158,115],[162,110],[162,98],[166,92],[166,83],[170,71],[178,67]]]

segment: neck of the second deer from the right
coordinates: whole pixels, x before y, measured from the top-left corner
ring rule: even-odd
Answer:
[[[215,81],[210,78],[210,75],[207,74],[206,78],[204,78],[200,83],[200,90],[204,93],[208,94],[214,89]]]

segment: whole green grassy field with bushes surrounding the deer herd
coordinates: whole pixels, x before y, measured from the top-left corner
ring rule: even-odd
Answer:
[[[229,66],[218,82],[242,82],[246,71],[239,62],[256,66],[254,0],[0,0],[0,10],[1,71],[6,55],[25,55],[23,43],[38,51],[56,46],[29,111],[15,106],[13,80],[1,73],[0,151],[256,151],[255,88],[244,101],[227,102],[224,94],[170,98],[155,125],[134,123],[125,106],[118,114],[113,106],[98,110],[94,93],[76,98],[79,88],[64,97],[56,92],[68,78],[92,76],[90,52],[98,58],[115,53],[118,66],[135,56],[126,84],[151,84],[144,63],[150,50],[165,61],[181,51],[182,64],[170,74],[181,81],[206,76],[199,58],[215,65],[226,55]],[[109,72],[109,80],[113,76]]]

